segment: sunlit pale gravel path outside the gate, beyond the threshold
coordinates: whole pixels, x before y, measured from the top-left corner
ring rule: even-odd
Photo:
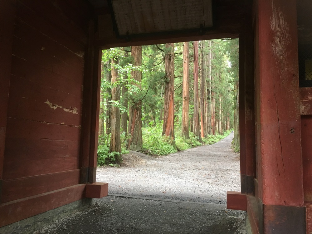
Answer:
[[[112,194],[226,204],[227,191],[240,191],[232,139],[158,158],[137,154],[141,165],[98,168],[96,181],[108,182]]]

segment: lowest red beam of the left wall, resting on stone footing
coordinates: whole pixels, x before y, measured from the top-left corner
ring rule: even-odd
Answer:
[[[0,205],[0,227],[78,201],[84,197],[85,184],[78,184],[41,195],[3,203]]]

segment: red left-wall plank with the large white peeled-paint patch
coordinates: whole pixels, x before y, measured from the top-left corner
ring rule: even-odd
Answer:
[[[8,117],[81,125],[80,98],[12,76]]]

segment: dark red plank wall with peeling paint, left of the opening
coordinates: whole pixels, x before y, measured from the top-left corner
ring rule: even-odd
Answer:
[[[2,207],[77,185],[81,168],[90,6],[84,0],[18,0],[15,11]]]

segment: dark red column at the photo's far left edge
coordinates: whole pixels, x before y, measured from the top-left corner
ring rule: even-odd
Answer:
[[[15,1],[0,2],[0,202],[2,194],[2,173],[7,128],[7,105],[9,96],[12,44],[15,19]]]

